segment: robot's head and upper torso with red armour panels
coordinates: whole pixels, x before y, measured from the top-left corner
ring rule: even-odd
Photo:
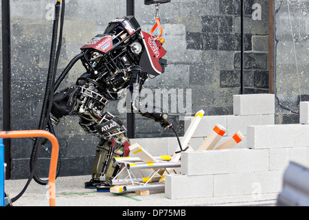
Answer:
[[[119,73],[133,65],[157,76],[166,65],[162,43],[141,31],[134,16],[111,21],[104,34],[98,34],[80,49],[85,53],[83,63],[87,72],[98,76]]]

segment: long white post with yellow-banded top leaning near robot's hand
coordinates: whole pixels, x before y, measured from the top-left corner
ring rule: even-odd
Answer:
[[[196,130],[198,124],[201,122],[201,119],[203,118],[205,111],[200,110],[196,113],[196,115],[194,116],[190,126],[187,128],[187,131],[185,131],[185,135],[183,136],[183,138],[181,139],[181,146],[186,147],[189,142],[190,139],[194,133],[194,131]],[[189,149],[188,149],[189,150]],[[192,150],[192,148],[190,149]],[[177,146],[176,151],[180,151],[180,147]],[[170,159],[170,162],[178,162],[179,159],[181,158],[181,153],[175,153],[172,156],[172,159]],[[167,175],[168,173],[173,173],[174,168],[166,168],[167,171],[165,171],[159,181],[160,184],[165,184],[165,175]]]

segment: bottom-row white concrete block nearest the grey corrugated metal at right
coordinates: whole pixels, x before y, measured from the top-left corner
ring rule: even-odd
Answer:
[[[253,175],[252,196],[259,199],[263,193],[282,191],[284,170],[255,172]]]

